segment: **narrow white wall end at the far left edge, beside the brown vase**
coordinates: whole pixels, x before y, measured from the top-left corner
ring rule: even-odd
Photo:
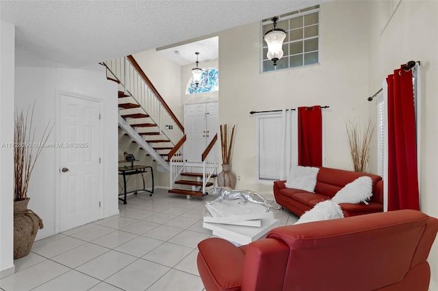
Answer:
[[[0,143],[14,141],[15,27],[0,20]],[[14,273],[14,150],[0,146],[0,279]]]

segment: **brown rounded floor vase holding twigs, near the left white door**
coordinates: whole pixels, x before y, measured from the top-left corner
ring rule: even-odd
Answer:
[[[14,259],[30,253],[36,233],[43,227],[42,219],[27,209],[29,199],[14,201]]]

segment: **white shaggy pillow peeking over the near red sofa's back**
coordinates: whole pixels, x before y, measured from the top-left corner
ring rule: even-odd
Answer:
[[[326,200],[319,202],[311,210],[304,212],[300,219],[298,219],[298,221],[296,221],[294,224],[327,219],[338,219],[343,217],[344,212],[342,212],[341,206],[331,200]]]

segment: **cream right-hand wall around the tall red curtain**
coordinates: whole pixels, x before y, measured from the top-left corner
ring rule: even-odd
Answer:
[[[370,84],[374,94],[383,79],[407,61],[421,61],[420,210],[438,217],[438,2],[401,1],[389,20],[388,1],[370,1]],[[386,28],[383,29],[386,25]],[[376,102],[370,102],[370,116]],[[430,290],[438,290],[438,243],[429,255]]]

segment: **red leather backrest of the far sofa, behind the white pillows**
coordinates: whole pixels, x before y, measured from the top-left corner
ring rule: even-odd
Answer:
[[[337,191],[342,189],[346,184],[353,182],[359,177],[368,176],[372,180],[371,201],[383,204],[383,180],[381,176],[342,169],[319,168],[320,171],[316,178],[315,193],[333,197]]]

